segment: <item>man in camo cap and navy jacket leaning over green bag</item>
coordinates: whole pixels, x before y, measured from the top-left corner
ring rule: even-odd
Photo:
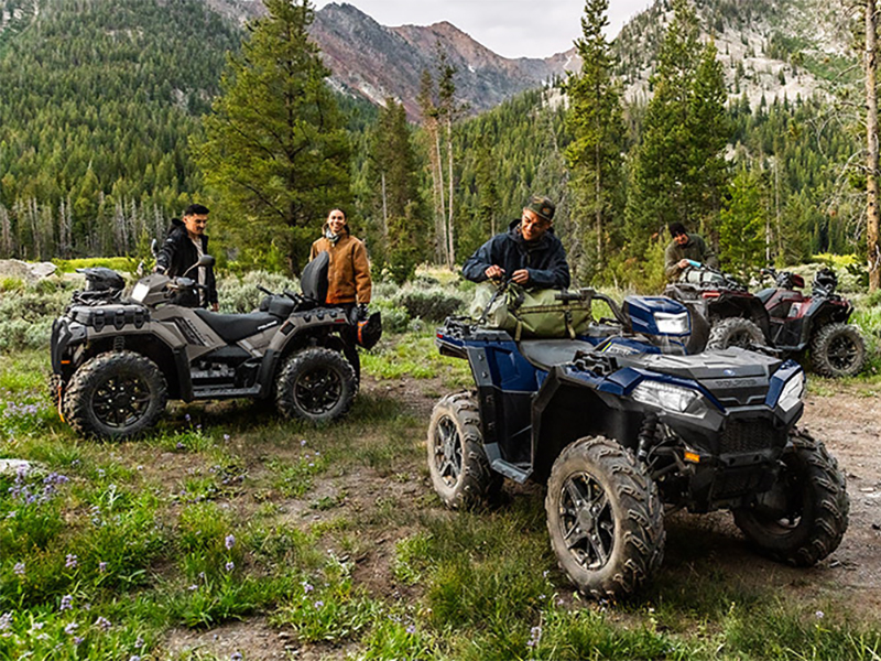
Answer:
[[[523,286],[569,286],[569,264],[554,235],[556,207],[547,197],[533,196],[519,220],[496,235],[468,258],[463,275],[474,282],[508,278]]]

